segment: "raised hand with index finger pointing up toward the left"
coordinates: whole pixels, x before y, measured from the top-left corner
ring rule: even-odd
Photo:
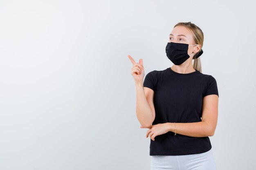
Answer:
[[[144,72],[144,66],[142,59],[139,59],[139,63],[135,62],[133,58],[128,55],[128,58],[132,62],[132,69],[131,69],[131,75],[134,78],[135,82],[142,82],[143,83],[143,77],[145,75]]]

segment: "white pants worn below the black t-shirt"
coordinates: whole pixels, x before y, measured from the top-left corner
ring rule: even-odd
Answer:
[[[150,170],[216,170],[212,150],[200,154],[150,157]]]

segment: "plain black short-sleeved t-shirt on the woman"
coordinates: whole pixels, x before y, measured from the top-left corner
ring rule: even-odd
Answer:
[[[190,123],[202,121],[202,101],[206,95],[218,95],[216,79],[196,70],[177,73],[171,68],[149,72],[144,87],[154,91],[155,120],[160,123]],[[218,95],[219,96],[219,95]],[[150,139],[150,155],[190,155],[211,149],[209,137],[190,137],[167,132]]]

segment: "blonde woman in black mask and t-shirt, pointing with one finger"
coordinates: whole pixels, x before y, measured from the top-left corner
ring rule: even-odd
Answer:
[[[218,119],[216,79],[203,74],[204,34],[191,22],[177,23],[166,45],[173,66],[150,71],[128,55],[136,85],[136,114],[150,137],[150,170],[216,170],[209,136]],[[192,64],[193,61],[193,64]]]

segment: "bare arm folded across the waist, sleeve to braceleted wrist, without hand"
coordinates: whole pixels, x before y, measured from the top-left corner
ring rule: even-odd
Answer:
[[[203,98],[202,121],[192,123],[166,123],[168,130],[191,137],[213,136],[218,120],[218,95],[207,95]]]

